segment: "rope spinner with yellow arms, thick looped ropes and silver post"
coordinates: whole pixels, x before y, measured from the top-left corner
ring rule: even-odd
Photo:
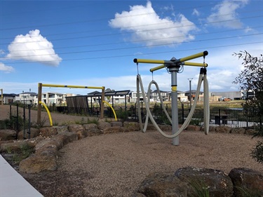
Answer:
[[[142,85],[142,79],[141,79],[139,71],[138,71],[137,80],[136,80],[137,81],[137,103],[138,103],[137,106],[140,106],[139,102],[140,102],[140,88],[141,88],[142,96],[143,96],[143,100],[144,100],[144,104],[145,104],[145,108],[147,110],[146,121],[145,121],[144,128],[143,128],[142,127],[142,117],[141,117],[141,113],[140,113],[140,107],[137,108],[139,121],[140,121],[140,129],[142,130],[142,132],[146,131],[148,119],[150,118],[151,122],[154,124],[155,128],[157,130],[159,130],[159,132],[164,137],[172,138],[173,139],[173,145],[179,145],[179,135],[182,132],[182,130],[187,128],[187,125],[189,125],[189,123],[191,121],[191,117],[193,116],[194,109],[196,107],[197,97],[198,97],[200,89],[201,89],[201,83],[203,81],[204,116],[205,116],[204,117],[204,129],[205,129],[205,134],[208,134],[210,112],[209,112],[208,81],[207,81],[207,78],[206,78],[206,67],[208,67],[208,64],[205,63],[205,56],[206,55],[208,55],[208,51],[205,50],[205,51],[203,51],[201,53],[196,53],[195,55],[190,55],[188,57],[183,57],[183,58],[180,58],[178,60],[175,57],[173,57],[171,60],[144,60],[144,59],[134,59],[133,60],[133,62],[135,62],[137,64],[137,66],[138,66],[138,63],[161,64],[158,67],[154,67],[154,68],[150,69],[150,72],[153,73],[156,70],[159,70],[159,69],[162,69],[162,68],[166,68],[168,70],[168,72],[171,74],[172,119],[168,115],[168,112],[166,111],[166,108],[164,107],[163,101],[161,100],[161,106],[162,106],[163,110],[165,111],[166,116],[168,116],[168,119],[172,123],[172,127],[173,127],[172,135],[167,135],[156,124],[156,122],[154,121],[154,117],[151,115],[151,111],[149,110],[149,92],[150,92],[149,90],[150,90],[151,84],[154,84],[156,86],[157,91],[159,93],[159,97],[161,97],[161,93],[160,93],[159,87],[158,87],[158,85],[157,85],[157,83],[155,81],[151,81],[151,83],[149,83],[148,101],[147,101],[145,93],[144,93],[144,88],[143,88],[143,85]],[[192,60],[192,59],[195,59],[197,57],[203,57],[203,63],[186,62],[187,60]],[[197,85],[197,88],[196,88],[196,99],[194,100],[194,105],[193,105],[193,107],[190,110],[189,116],[187,117],[186,121],[184,121],[182,127],[179,130],[179,127],[178,127],[178,108],[177,108],[177,73],[181,71],[181,69],[182,69],[182,67],[184,65],[186,65],[186,66],[202,67],[202,68],[200,70],[200,75],[199,75],[199,79],[198,79],[198,85]]]

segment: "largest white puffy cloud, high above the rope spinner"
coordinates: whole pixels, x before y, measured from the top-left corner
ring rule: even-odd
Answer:
[[[130,11],[116,13],[109,25],[131,32],[133,41],[142,41],[147,46],[191,41],[194,36],[190,32],[197,29],[182,14],[177,15],[175,20],[160,18],[150,1],[146,6],[130,6]]]

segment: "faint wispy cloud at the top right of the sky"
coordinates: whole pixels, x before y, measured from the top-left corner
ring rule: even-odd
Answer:
[[[215,27],[227,27],[238,29],[243,26],[243,23],[238,19],[236,10],[248,4],[248,0],[229,1],[224,0],[212,8],[213,13],[208,16],[208,22]],[[222,21],[222,22],[221,22]]]

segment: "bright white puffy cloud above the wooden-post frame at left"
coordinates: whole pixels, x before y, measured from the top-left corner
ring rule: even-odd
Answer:
[[[62,58],[55,54],[53,44],[41,36],[39,29],[29,31],[29,34],[15,36],[8,46],[7,59],[40,62],[50,66],[58,66]]]

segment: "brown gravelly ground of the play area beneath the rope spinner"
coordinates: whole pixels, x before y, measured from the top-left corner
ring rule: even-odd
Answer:
[[[0,119],[8,117],[0,106]],[[4,112],[5,111],[5,112]],[[32,120],[36,113],[32,111]],[[80,116],[51,114],[58,124],[81,120]],[[22,174],[45,197],[132,196],[143,179],[153,172],[175,172],[193,166],[227,174],[233,168],[263,172],[250,157],[259,138],[249,135],[185,131],[180,145],[157,131],[115,133],[87,137],[60,149],[58,170]]]

